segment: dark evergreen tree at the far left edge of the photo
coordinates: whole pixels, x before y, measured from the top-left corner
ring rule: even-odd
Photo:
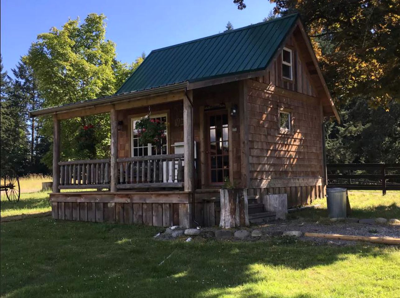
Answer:
[[[13,168],[23,174],[28,162],[28,138],[26,135],[26,109],[24,96],[16,87],[7,72],[1,73],[1,107],[0,107],[0,167],[1,174]]]

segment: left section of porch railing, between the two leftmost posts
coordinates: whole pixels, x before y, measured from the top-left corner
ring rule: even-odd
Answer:
[[[110,188],[110,160],[73,160],[58,162],[59,189]]]

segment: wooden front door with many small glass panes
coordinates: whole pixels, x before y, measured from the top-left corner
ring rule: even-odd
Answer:
[[[229,179],[228,112],[206,112],[206,158],[209,184],[223,184]]]

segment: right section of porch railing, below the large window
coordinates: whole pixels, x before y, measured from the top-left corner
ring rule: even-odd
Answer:
[[[183,186],[184,154],[118,158],[118,189]]]

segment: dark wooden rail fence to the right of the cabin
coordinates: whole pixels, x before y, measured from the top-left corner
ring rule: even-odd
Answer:
[[[400,164],[327,164],[328,186],[400,190]]]

